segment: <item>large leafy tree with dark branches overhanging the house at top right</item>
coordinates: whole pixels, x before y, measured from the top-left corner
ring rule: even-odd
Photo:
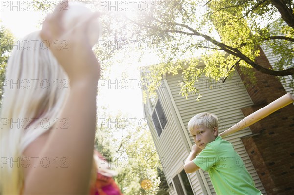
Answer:
[[[161,63],[150,68],[153,82],[159,83],[165,73],[177,74],[184,69],[181,85],[182,94],[187,96],[198,92],[194,83],[201,75],[224,82],[236,66],[251,78],[254,78],[252,68],[278,77],[294,75],[294,3],[291,0],[146,3],[150,9],[141,8],[133,16],[122,11],[114,17],[109,7],[104,10],[107,20],[103,24],[108,29],[104,36],[125,44],[145,40],[151,43],[150,48],[164,45],[164,49],[156,50]],[[255,62],[261,45],[271,48],[279,59],[272,69]],[[199,66],[201,61],[205,67]]]

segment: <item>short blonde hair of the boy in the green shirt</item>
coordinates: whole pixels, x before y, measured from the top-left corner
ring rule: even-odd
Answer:
[[[211,130],[214,127],[219,128],[218,117],[208,112],[202,112],[200,114],[197,114],[193,116],[188,122],[188,130],[191,133],[191,130],[193,130],[195,127],[199,128],[202,125],[204,125],[205,127]]]

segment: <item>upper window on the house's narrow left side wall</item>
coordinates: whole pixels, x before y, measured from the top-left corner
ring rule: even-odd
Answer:
[[[165,128],[167,124],[167,120],[163,113],[163,109],[160,105],[159,100],[157,100],[156,106],[154,108],[154,111],[152,114],[152,120],[153,120],[155,129],[157,131],[158,137],[160,137],[162,130]]]

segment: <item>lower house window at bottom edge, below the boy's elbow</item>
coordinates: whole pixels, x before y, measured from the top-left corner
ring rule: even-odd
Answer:
[[[172,180],[178,195],[193,195],[193,190],[184,170],[178,173]]]

